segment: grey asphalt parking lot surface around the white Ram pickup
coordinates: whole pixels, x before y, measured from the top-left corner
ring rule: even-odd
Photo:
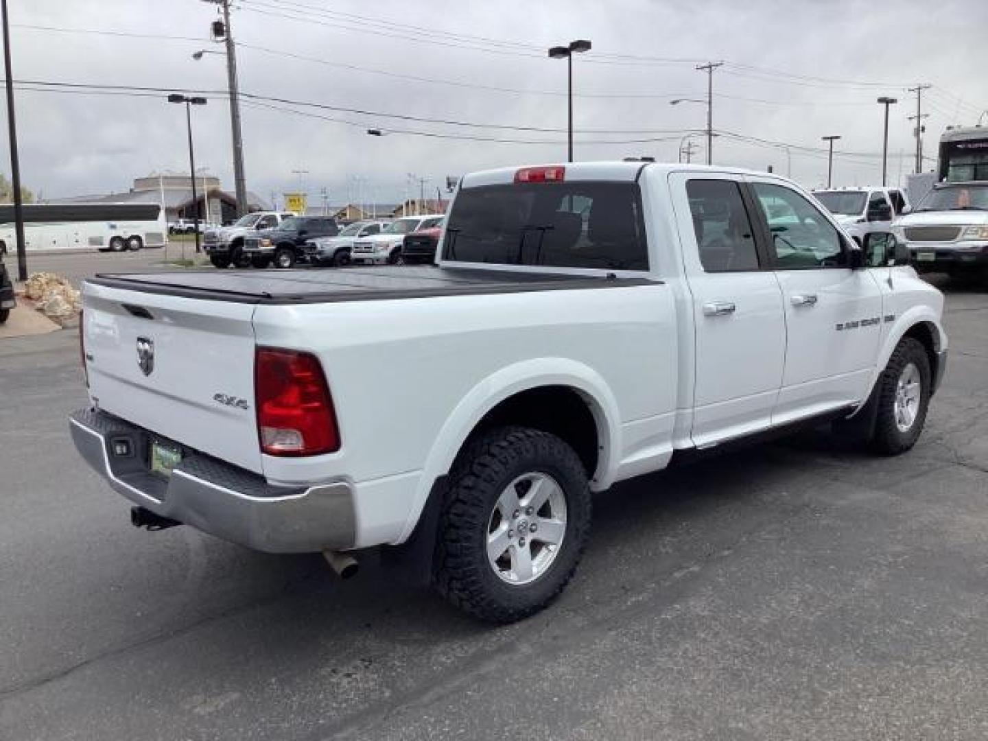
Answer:
[[[131,528],[68,438],[75,333],[4,341],[0,738],[983,739],[988,292],[946,289],[913,452],[811,432],[620,485],[503,628],[372,557]]]

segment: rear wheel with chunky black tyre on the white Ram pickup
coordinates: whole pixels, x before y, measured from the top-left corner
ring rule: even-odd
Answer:
[[[573,576],[590,510],[587,472],[562,440],[521,427],[483,433],[453,465],[436,588],[491,622],[535,615]]]

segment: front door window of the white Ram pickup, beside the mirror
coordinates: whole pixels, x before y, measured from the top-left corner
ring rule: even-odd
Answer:
[[[779,270],[836,268],[845,264],[840,232],[816,206],[795,191],[770,183],[752,189],[772,234]]]

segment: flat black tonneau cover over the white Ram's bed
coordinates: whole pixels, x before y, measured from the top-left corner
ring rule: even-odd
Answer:
[[[566,276],[509,271],[382,266],[336,270],[221,271],[98,275],[86,283],[238,303],[331,303],[532,290],[617,288],[654,283],[644,278]]]

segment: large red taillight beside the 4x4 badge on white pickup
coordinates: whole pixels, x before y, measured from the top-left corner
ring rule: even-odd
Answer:
[[[340,450],[333,399],[315,356],[259,348],[254,393],[264,453],[318,455]]]

